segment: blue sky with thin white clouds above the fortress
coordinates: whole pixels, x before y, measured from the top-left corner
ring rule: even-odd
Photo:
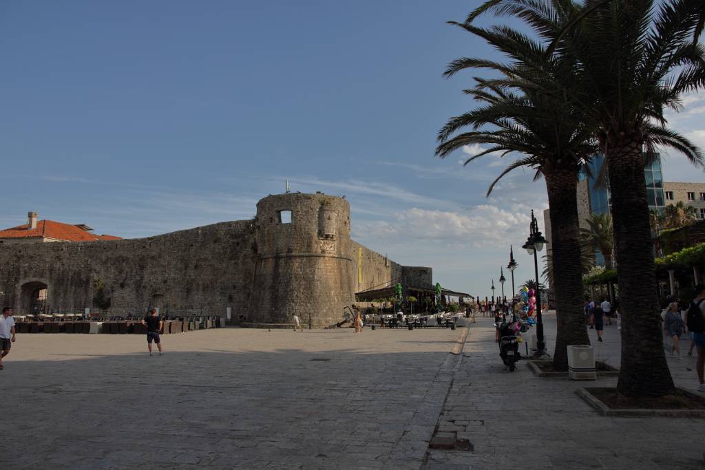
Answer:
[[[434,159],[473,104],[459,56],[493,57],[477,1],[0,2],[0,226],[39,218],[143,237],[250,218],[267,194],[347,197],[353,237],[491,295],[546,190],[505,163]],[[705,97],[671,125],[705,147]],[[467,149],[472,153],[476,149]],[[666,156],[668,181],[705,181]],[[541,224],[543,221],[541,221]],[[517,250],[517,281],[533,277]]]

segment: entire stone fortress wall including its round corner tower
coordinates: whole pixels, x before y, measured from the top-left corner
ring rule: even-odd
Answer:
[[[231,307],[234,319],[250,323],[288,323],[297,314],[321,326],[339,321],[355,292],[404,275],[430,284],[431,268],[401,266],[351,240],[350,205],[326,194],[269,196],[252,221],[154,237],[0,245],[0,302],[16,314],[28,313],[38,285],[59,313],[94,307],[102,285],[110,315],[148,307],[224,315]]]

